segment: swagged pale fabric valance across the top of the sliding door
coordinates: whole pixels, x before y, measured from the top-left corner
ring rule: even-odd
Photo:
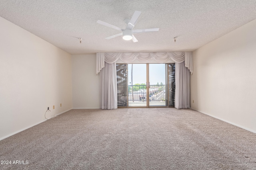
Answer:
[[[167,63],[169,59],[175,63],[185,61],[185,66],[193,73],[192,52],[154,52],[154,53],[96,53],[96,74],[104,68],[104,62],[108,64],[115,63],[118,59],[124,63],[132,63],[138,60],[142,63],[148,63],[154,59],[158,63]]]

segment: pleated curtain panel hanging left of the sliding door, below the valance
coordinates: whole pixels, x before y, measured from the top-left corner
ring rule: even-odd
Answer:
[[[100,108],[117,109],[116,63],[104,63],[100,72]]]

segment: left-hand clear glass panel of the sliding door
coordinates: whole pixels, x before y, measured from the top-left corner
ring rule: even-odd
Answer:
[[[146,64],[128,64],[128,106],[147,107]]]

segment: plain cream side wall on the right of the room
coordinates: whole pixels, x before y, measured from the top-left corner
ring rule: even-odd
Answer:
[[[191,108],[256,133],[256,20],[200,47],[193,60]]]

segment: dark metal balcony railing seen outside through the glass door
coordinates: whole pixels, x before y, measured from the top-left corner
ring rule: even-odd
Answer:
[[[165,87],[166,85],[150,85],[149,87],[149,100],[164,101],[165,100]],[[146,85],[129,85],[128,86],[129,98],[128,101],[146,101],[147,89]]]

